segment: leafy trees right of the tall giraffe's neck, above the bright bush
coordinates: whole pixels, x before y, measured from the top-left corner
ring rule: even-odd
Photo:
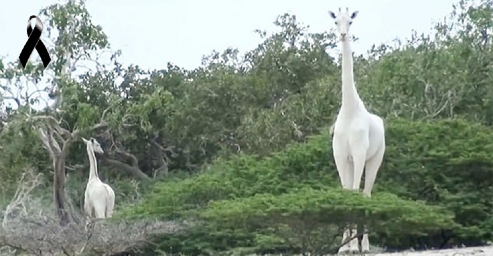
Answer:
[[[462,117],[493,124],[493,43],[488,36],[493,5],[471,3],[454,6],[450,18],[435,24],[434,34],[414,32],[406,43],[372,49],[370,65],[357,75],[360,94],[372,107],[390,117]]]

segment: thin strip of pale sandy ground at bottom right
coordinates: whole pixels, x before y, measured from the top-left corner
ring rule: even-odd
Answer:
[[[493,246],[455,248],[445,250],[428,250],[419,252],[380,253],[368,256],[493,256]]]

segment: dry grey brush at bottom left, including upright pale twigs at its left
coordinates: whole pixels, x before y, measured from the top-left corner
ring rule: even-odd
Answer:
[[[158,220],[105,219],[86,226],[83,214],[71,211],[72,222],[59,224],[54,209],[30,193],[40,175],[27,170],[3,211],[0,255],[112,255],[146,243],[155,234],[176,233],[185,224]],[[83,220],[83,221],[80,221]]]

